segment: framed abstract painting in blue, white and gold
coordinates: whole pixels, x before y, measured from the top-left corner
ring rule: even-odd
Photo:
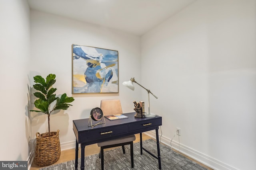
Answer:
[[[72,45],[72,94],[118,93],[118,51]]]

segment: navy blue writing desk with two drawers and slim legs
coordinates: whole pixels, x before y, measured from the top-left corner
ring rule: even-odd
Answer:
[[[110,121],[105,118],[106,123],[96,125],[95,127],[88,127],[89,119],[73,120],[73,130],[76,135],[76,158],[75,168],[78,167],[78,144],[81,146],[81,170],[84,170],[84,148],[86,145],[94,143],[100,143],[128,135],[140,133],[140,154],[142,149],[151,154],[148,150],[142,147],[142,132],[156,130],[156,144],[157,144],[157,156],[158,166],[161,169],[160,147],[158,129],[162,125],[162,117],[150,117],[150,118],[135,118],[135,112],[124,113],[128,116],[126,119],[118,119]]]

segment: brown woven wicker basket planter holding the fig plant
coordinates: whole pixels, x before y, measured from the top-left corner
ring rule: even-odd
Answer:
[[[48,166],[60,158],[59,130],[57,132],[36,133],[35,161],[38,166]]]

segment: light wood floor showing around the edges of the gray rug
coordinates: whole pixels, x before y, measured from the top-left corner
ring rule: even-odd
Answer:
[[[136,134],[135,136],[136,136],[136,140],[134,141],[134,143],[140,142],[140,134]],[[147,140],[147,139],[152,139],[152,138],[149,137],[148,135],[145,135],[144,133],[142,133],[142,139]],[[113,148],[110,148],[110,149],[113,149]],[[88,156],[91,154],[99,153],[100,147],[98,147],[97,144],[93,144],[93,145],[86,146],[85,150],[86,150],[86,152],[85,152],[84,156]],[[108,149],[106,149],[106,150],[108,150]],[[176,152],[178,152],[178,151],[176,151]],[[180,153],[180,154],[182,154],[182,153]],[[182,155],[184,155],[184,154],[182,154]],[[184,156],[186,156],[186,155],[184,155]],[[80,152],[78,154],[78,157],[80,158]],[[190,160],[193,160],[192,158],[190,158],[188,156],[186,156],[186,157],[189,158]],[[61,151],[60,159],[55,164],[59,164],[62,162],[73,160],[73,159],[75,159],[75,149],[63,150],[63,151]],[[193,161],[197,162],[201,166],[204,166],[205,168],[208,168],[209,170],[213,170],[212,168],[209,168],[208,166],[205,166],[204,164],[202,164],[196,160],[193,160]],[[35,162],[33,161],[32,166],[30,167],[30,170],[38,170],[39,168],[42,168],[42,166],[36,165]]]

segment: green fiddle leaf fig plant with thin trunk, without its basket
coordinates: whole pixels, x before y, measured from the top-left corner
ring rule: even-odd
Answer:
[[[56,82],[55,74],[49,74],[46,77],[46,80],[42,78],[42,76],[34,76],[34,82],[36,84],[33,85],[34,89],[40,91],[35,92],[34,96],[38,99],[34,102],[34,105],[39,110],[30,110],[35,112],[42,112],[48,115],[48,132],[50,137],[50,115],[54,110],[66,110],[69,106],[72,106],[71,102],[74,101],[73,97],[68,97],[66,93],[62,94],[61,97],[56,97],[57,88],[53,88],[52,85]],[[51,107],[50,104],[56,100],[56,104]]]

